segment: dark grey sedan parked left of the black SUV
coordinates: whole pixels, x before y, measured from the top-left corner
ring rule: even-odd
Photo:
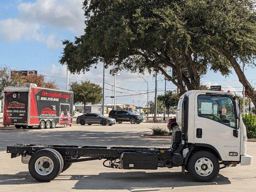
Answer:
[[[101,125],[113,125],[116,124],[116,120],[114,118],[106,117],[102,114],[97,113],[86,113],[80,115],[76,118],[76,122],[80,123],[81,125],[91,125],[91,124],[101,124]]]

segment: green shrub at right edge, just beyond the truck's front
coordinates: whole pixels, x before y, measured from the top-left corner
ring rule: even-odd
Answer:
[[[249,112],[245,115],[242,114],[242,119],[246,127],[247,137],[256,138],[256,116]]]

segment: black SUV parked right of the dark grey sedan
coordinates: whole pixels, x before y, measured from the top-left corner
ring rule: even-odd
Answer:
[[[124,110],[112,110],[108,114],[108,117],[116,119],[118,123],[122,123],[123,121],[130,121],[131,124],[140,124],[143,121],[143,117],[141,115],[135,115],[131,111]]]

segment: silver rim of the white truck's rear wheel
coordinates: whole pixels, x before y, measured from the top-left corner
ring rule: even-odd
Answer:
[[[40,157],[35,162],[35,170],[40,175],[48,175],[53,170],[53,162],[49,157]]]

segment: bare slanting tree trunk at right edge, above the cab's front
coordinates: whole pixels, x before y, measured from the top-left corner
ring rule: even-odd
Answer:
[[[248,82],[246,76],[244,75],[243,71],[241,70],[238,62],[236,61],[236,59],[229,54],[226,50],[223,50],[222,48],[216,48],[216,50],[218,50],[221,54],[223,54],[230,62],[230,64],[232,65],[232,67],[234,68],[239,82],[244,86],[245,90],[247,91],[248,96],[250,96],[254,106],[256,106],[256,92],[254,90],[254,88],[252,87],[252,85]]]

